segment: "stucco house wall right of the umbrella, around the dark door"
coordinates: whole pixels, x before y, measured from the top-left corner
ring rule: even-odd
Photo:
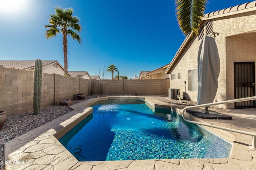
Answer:
[[[220,75],[216,99],[234,99],[234,62],[256,61],[256,12],[246,12],[213,20],[213,30],[220,57]],[[252,32],[251,32],[252,31]],[[250,33],[251,32],[251,33]],[[234,108],[234,104],[222,105]]]

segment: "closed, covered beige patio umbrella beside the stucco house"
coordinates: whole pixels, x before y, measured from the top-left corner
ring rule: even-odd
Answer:
[[[206,36],[198,51],[198,105],[213,102],[218,89],[219,74],[220,58],[215,39]]]

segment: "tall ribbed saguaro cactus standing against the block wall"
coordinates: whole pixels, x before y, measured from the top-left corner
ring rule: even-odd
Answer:
[[[34,98],[33,107],[34,115],[40,115],[40,102],[41,102],[41,90],[42,90],[42,68],[43,61],[37,59],[34,64]]]

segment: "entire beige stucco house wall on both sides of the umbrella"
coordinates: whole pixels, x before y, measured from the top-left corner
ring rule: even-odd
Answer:
[[[256,62],[256,12],[245,12],[230,16],[210,18],[212,19],[213,31],[219,33],[215,37],[220,57],[220,75],[218,78],[218,90],[216,100],[218,102],[234,99],[234,62]],[[209,20],[210,20],[209,19]],[[207,20],[206,20],[207,21]],[[198,48],[200,41],[193,36],[189,40],[186,49],[180,54],[179,59],[170,68],[170,74],[180,72],[180,79],[170,79],[170,88],[180,89],[180,94],[187,99],[197,101],[197,91],[188,91],[188,70],[197,68]],[[254,70],[255,71],[255,70]],[[234,108],[234,104],[221,105],[225,108]]]

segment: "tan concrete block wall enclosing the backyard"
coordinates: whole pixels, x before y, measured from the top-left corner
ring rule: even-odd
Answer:
[[[0,110],[7,117],[33,111],[34,72],[0,65]],[[44,73],[41,107],[59,104],[62,98],[76,99],[76,94],[89,95],[90,82],[83,78]],[[100,94],[99,82],[104,82],[103,94],[168,94],[169,80],[95,80],[94,93]]]

